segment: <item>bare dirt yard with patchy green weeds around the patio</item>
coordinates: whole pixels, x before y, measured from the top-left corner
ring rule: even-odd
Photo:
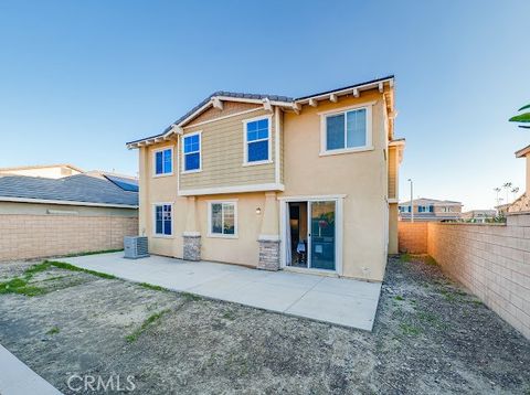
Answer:
[[[530,394],[530,342],[428,258],[390,259],[372,333],[32,265],[0,265],[0,343],[65,394]]]

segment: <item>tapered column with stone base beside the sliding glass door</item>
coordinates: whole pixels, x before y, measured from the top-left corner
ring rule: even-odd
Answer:
[[[257,268],[279,270],[279,224],[276,192],[265,193],[265,207],[259,236],[259,259]]]

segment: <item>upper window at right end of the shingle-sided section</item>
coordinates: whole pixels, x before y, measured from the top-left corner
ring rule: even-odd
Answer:
[[[271,162],[271,119],[245,120],[245,162],[259,164]]]

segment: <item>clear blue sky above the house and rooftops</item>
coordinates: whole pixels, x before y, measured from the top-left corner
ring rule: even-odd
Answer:
[[[136,173],[125,142],[218,89],[301,96],[396,76],[401,199],[490,207],[530,131],[529,1],[0,1],[0,167]]]

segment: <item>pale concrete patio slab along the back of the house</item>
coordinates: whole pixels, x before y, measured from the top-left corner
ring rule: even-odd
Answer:
[[[381,291],[380,282],[161,256],[130,260],[112,253],[61,260],[135,282],[367,331],[372,330]]]

